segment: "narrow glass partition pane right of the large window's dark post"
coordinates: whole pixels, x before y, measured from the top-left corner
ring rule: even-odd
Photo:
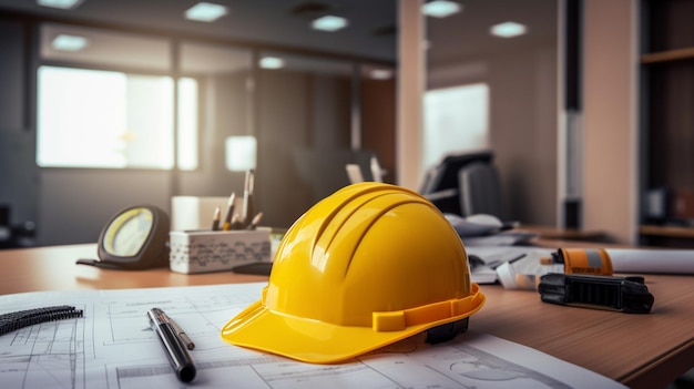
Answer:
[[[228,196],[243,187],[245,172],[239,171],[238,163],[248,166],[246,156],[255,152],[227,146],[237,145],[234,140],[256,135],[253,51],[185,40],[178,50],[178,72],[196,81],[197,92],[196,100],[180,104],[180,114],[191,111],[192,106],[197,108],[197,113],[195,120],[178,119],[178,157],[185,152],[196,153],[195,161],[200,163],[196,175],[180,177],[181,192]],[[181,93],[180,99],[183,95]],[[229,161],[235,163],[229,164]]]

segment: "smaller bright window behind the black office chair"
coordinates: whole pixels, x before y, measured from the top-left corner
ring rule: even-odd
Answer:
[[[422,168],[441,157],[489,146],[489,88],[484,83],[425,93]]]

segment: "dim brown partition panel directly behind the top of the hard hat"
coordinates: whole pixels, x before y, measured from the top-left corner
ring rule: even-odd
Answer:
[[[349,79],[264,71],[259,100],[258,202],[268,224],[289,226],[319,199],[297,168],[297,153],[349,149]],[[344,168],[335,174],[347,184]]]

